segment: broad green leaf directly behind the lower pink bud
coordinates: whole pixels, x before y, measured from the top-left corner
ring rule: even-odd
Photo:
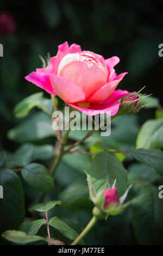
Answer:
[[[115,179],[119,196],[127,189],[127,170],[112,152],[98,153],[92,161],[88,174],[95,190],[101,190],[106,182],[111,187]]]

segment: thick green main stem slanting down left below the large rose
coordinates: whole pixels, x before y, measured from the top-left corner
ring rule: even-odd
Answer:
[[[51,170],[50,170],[50,174],[53,176],[55,170],[57,169],[60,161],[61,161],[61,158],[62,156],[64,155],[64,147],[65,147],[65,144],[67,142],[67,138],[68,138],[68,133],[70,132],[70,129],[65,131],[65,134],[64,134],[64,137],[62,138],[62,143],[60,144],[60,152],[59,152],[59,155],[55,157],[55,160],[54,160],[54,163],[51,167]]]

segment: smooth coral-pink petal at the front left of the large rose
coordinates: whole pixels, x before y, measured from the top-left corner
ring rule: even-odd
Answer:
[[[56,74],[49,75],[52,86],[57,95],[65,102],[81,102],[85,100],[85,94],[78,84],[70,79]]]

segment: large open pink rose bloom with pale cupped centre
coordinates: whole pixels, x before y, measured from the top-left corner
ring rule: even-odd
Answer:
[[[104,59],[96,53],[82,51],[79,45],[69,47],[64,42],[58,46],[51,64],[45,69],[36,69],[26,80],[86,114],[103,111],[115,115],[121,104],[118,100],[128,95],[127,90],[115,90],[127,74],[116,75],[114,66],[118,62],[120,59],[116,56]]]

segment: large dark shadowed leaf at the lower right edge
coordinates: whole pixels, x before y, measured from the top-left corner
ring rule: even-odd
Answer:
[[[163,200],[153,186],[141,187],[141,195],[133,204],[133,227],[141,245],[162,245]]]

